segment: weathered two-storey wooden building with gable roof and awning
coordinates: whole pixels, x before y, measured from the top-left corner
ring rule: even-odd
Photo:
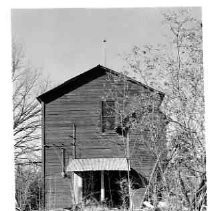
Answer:
[[[101,65],[39,96],[46,210],[91,200],[122,206],[128,176],[130,205],[138,208],[155,165],[154,131],[164,149],[163,98]]]

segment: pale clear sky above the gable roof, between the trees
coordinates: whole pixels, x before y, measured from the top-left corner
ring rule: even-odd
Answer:
[[[56,84],[104,63],[122,68],[119,54],[134,45],[167,42],[163,9],[25,9],[12,10],[12,36],[25,54]],[[200,18],[200,8],[192,9]]]

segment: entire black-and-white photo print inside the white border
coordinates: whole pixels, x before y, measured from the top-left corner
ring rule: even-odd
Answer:
[[[16,211],[205,211],[202,7],[13,8]]]

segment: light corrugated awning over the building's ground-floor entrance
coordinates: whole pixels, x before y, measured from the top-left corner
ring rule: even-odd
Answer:
[[[72,159],[66,171],[127,171],[126,158]]]

